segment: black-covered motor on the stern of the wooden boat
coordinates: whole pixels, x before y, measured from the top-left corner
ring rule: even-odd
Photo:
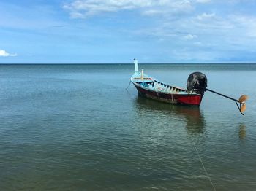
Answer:
[[[200,93],[204,93],[207,87],[207,77],[205,74],[197,71],[189,75],[187,79],[187,90],[200,90]]]

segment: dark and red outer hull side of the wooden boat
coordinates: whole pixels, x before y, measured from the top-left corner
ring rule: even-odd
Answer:
[[[138,93],[140,93],[140,95],[143,95],[146,98],[151,98],[151,99],[162,101],[169,104],[184,104],[184,105],[200,106],[203,98],[203,95],[201,94],[180,95],[180,94],[162,93],[157,91],[146,90],[145,88],[142,88],[139,85],[136,85],[136,84],[134,85],[137,88]]]

